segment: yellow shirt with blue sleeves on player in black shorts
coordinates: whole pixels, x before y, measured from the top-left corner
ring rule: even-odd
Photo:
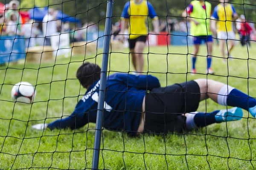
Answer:
[[[130,39],[148,34],[148,17],[157,19],[157,14],[148,0],[141,0],[140,3],[136,3],[135,0],[130,0],[125,4],[121,19],[130,20]]]

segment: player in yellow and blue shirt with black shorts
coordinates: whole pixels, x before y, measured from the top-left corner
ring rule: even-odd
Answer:
[[[122,11],[120,34],[129,26],[129,47],[131,59],[137,74],[142,74],[143,50],[148,37],[148,17],[152,19],[155,34],[159,34],[157,14],[148,0],[130,0]]]

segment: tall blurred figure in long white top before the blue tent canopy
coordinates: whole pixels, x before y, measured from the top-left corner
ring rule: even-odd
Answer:
[[[51,37],[58,35],[57,33],[57,22],[56,16],[58,11],[55,11],[53,8],[48,9],[48,13],[44,16],[43,19],[43,32],[44,32],[44,45],[51,45]]]

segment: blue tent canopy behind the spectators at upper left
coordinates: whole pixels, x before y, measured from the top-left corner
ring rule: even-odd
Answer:
[[[44,19],[44,16],[47,14],[47,11],[47,7],[35,7],[29,10],[29,17],[37,21],[42,21]],[[79,19],[64,14],[60,10],[58,10],[58,14],[56,17],[63,22],[69,21],[70,23],[80,23]]]

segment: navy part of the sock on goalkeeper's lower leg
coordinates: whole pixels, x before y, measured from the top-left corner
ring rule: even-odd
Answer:
[[[211,125],[213,123],[218,123],[215,119],[215,114],[219,111],[213,111],[211,113],[201,113],[198,112],[195,114],[194,122],[197,127],[204,127],[207,125]]]

